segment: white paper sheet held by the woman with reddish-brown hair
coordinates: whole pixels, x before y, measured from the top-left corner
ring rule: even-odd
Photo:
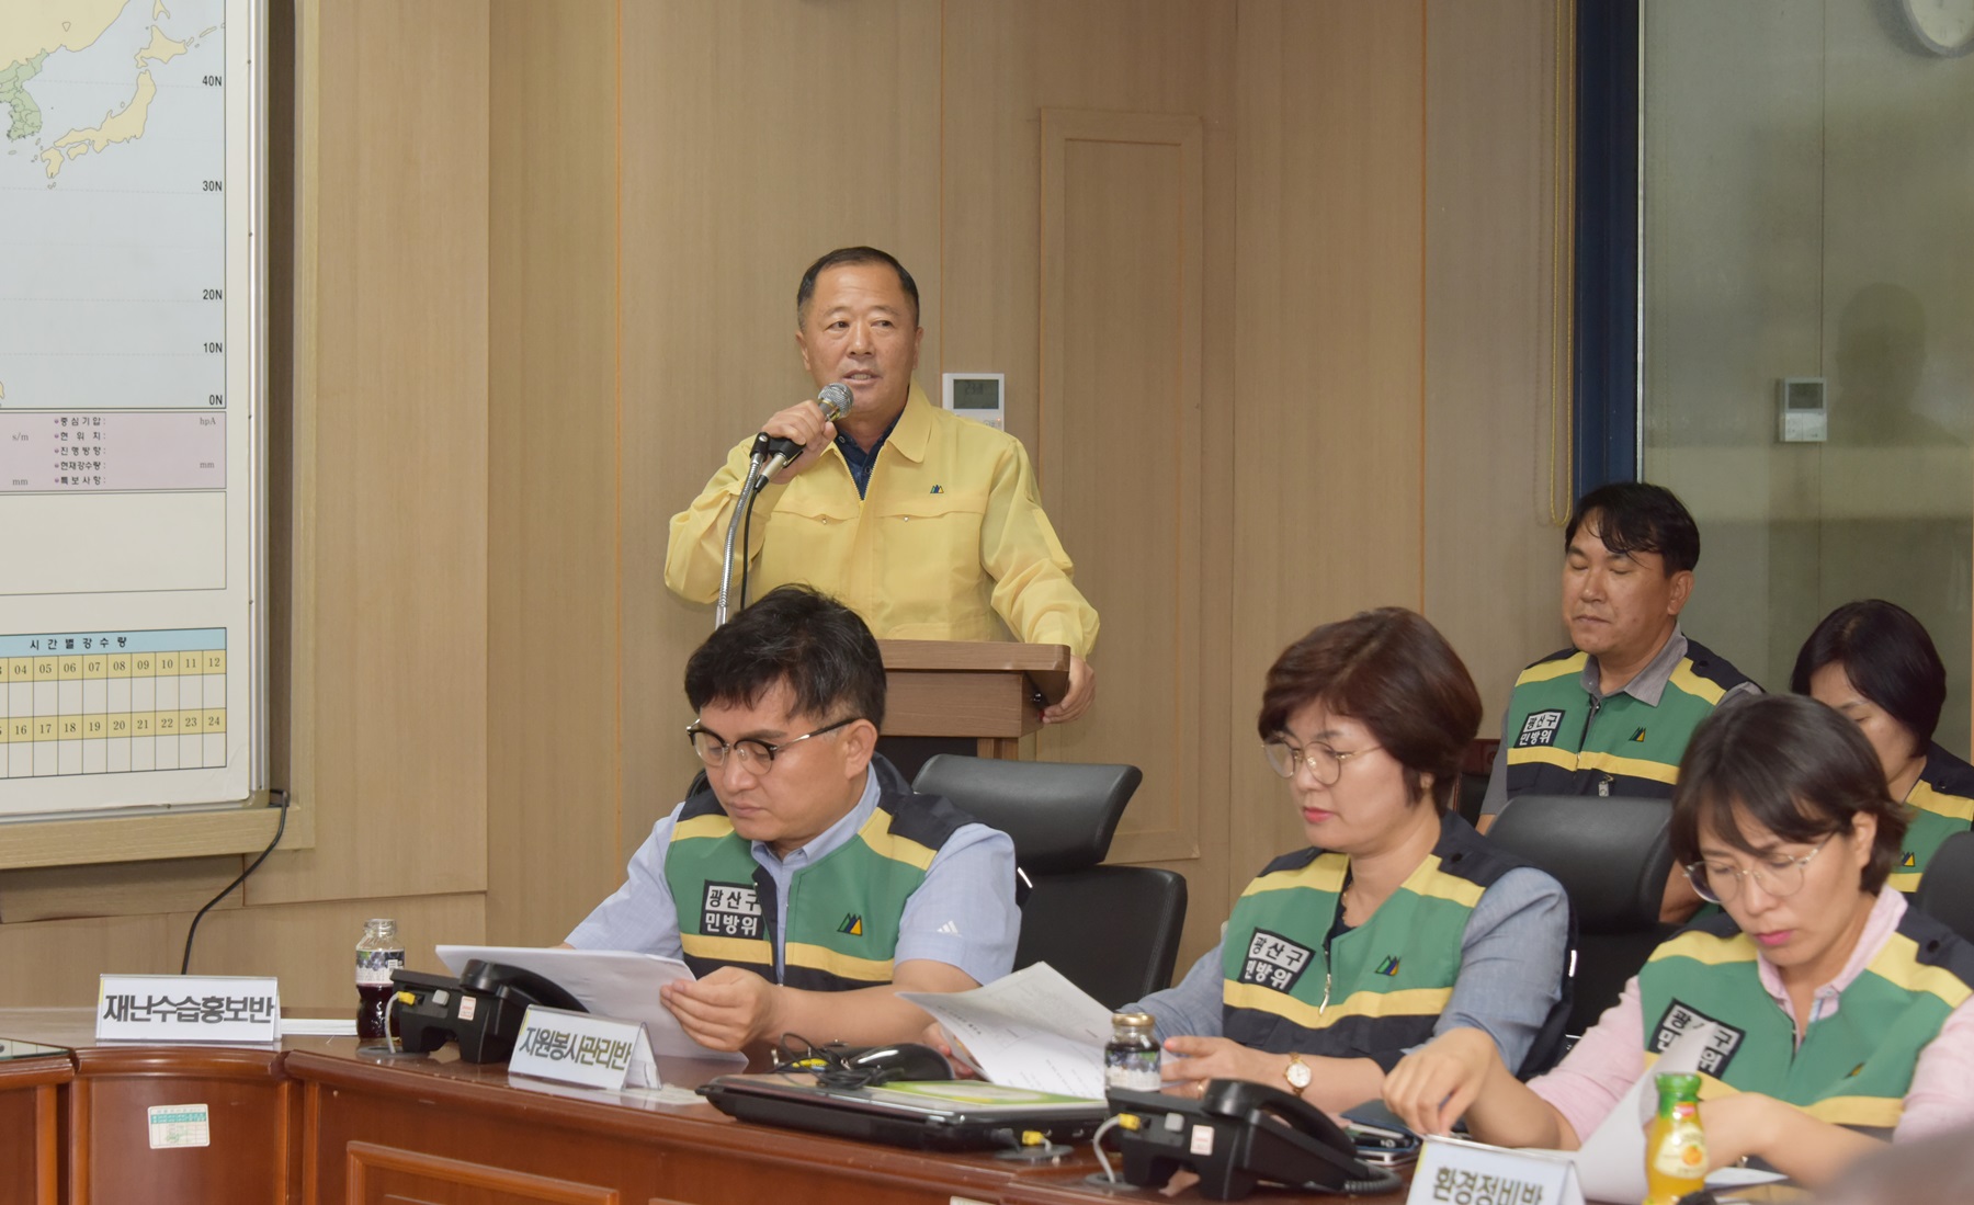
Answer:
[[[1048,962],[971,992],[898,992],[924,1008],[1001,1085],[1103,1099],[1111,1012]]]

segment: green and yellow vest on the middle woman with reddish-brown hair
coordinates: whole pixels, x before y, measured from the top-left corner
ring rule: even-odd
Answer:
[[[1275,858],[1228,917],[1220,1031],[1253,1049],[1376,1059],[1390,1071],[1405,1047],[1433,1035],[1453,998],[1467,919],[1518,866],[1459,815],[1441,816],[1433,852],[1325,958],[1350,858],[1317,848]],[[1530,1059],[1546,1057],[1546,1045],[1538,1039]]]

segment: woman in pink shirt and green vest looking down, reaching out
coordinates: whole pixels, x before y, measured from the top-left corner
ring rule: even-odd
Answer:
[[[1402,1063],[1386,1102],[1443,1134],[1573,1150],[1680,1031],[1702,1059],[1713,1168],[1759,1156],[1822,1183],[1883,1136],[1974,1120],[1974,949],[1885,886],[1905,813],[1858,726],[1769,694],[1694,734],[1672,848],[1725,915],[1658,947],[1561,1065],[1516,1083],[1451,1033]]]

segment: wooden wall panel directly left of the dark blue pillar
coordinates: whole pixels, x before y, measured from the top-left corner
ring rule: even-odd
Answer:
[[[1427,4],[1425,615],[1480,686],[1484,738],[1514,674],[1569,643],[1573,172],[1557,148],[1575,91],[1557,8]]]

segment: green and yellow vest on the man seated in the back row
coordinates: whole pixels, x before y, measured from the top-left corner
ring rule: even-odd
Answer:
[[[1587,653],[1565,649],[1522,671],[1508,696],[1500,755],[1516,795],[1644,795],[1672,799],[1694,728],[1745,682],[1698,641],[1672,667],[1658,706],[1625,690],[1601,700],[1583,688]]]

